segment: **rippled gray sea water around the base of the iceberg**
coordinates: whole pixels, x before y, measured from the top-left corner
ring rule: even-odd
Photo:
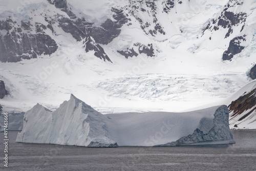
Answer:
[[[256,170],[256,130],[232,131],[236,144],[88,148],[16,143],[9,132],[8,167],[0,133],[0,170]]]

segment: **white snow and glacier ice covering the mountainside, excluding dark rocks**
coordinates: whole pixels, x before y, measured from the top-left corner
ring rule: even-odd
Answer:
[[[0,99],[0,104],[5,112],[13,109],[26,112],[35,102],[56,110],[62,99],[67,99],[71,93],[103,114],[182,112],[203,109],[205,105],[229,104],[223,101],[251,81],[248,71],[255,65],[256,5],[246,1],[239,9],[232,9],[248,13],[248,27],[243,31],[243,34],[248,33],[248,47],[232,61],[222,61],[222,54],[234,34],[224,39],[227,30],[219,30],[212,40],[201,34],[209,20],[218,18],[227,2],[183,1],[169,15],[162,13],[161,3],[158,3],[157,17],[166,31],[164,36],[146,35],[136,19],[129,16],[132,25],[124,25],[110,44],[101,45],[113,63],[100,60],[92,52],[85,53],[81,42],[54,24],[56,34],[51,36],[58,45],[54,54],[17,63],[0,63],[0,79],[10,92]],[[29,17],[32,24],[45,22],[41,13],[53,18],[57,13],[67,16],[43,0],[1,0],[0,4],[0,17],[11,16],[18,22]],[[68,4],[77,16],[84,16],[99,26],[110,16],[112,6],[123,7],[127,1],[74,0]],[[33,11],[34,8],[37,10]],[[151,14],[138,12],[138,15],[143,21],[153,20]],[[235,28],[234,33],[240,29],[240,26]],[[125,59],[116,52],[131,48],[137,42],[152,43],[156,56],[142,54]]]

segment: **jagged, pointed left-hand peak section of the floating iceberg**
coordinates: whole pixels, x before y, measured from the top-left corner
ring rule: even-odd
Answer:
[[[23,131],[17,142],[48,143],[78,146],[117,146],[109,138],[105,116],[73,94],[51,112],[36,104],[24,115]]]

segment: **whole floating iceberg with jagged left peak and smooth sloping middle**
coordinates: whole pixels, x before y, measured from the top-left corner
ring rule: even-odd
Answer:
[[[226,105],[184,112],[107,114],[71,94],[50,111],[36,104],[23,118],[16,142],[87,147],[234,143]]]

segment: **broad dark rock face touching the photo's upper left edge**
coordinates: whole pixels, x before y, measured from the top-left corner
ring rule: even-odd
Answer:
[[[24,30],[35,30],[39,34],[22,32]],[[58,46],[44,30],[47,27],[37,23],[32,26],[30,22],[22,22],[19,27],[12,19],[7,18],[0,21],[0,30],[6,30],[5,35],[0,34],[0,61],[17,62],[22,59],[36,58],[38,55],[50,55],[54,53]]]

